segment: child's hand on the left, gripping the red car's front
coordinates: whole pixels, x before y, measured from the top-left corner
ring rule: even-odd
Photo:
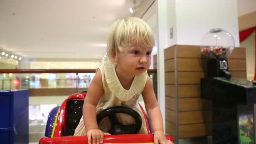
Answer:
[[[104,135],[110,135],[110,134],[104,133],[99,128],[93,128],[93,129],[90,129],[86,135],[88,137],[88,144],[91,144],[91,140],[92,140],[92,144],[103,144]]]

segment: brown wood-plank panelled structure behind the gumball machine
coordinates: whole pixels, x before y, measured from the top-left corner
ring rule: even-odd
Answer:
[[[166,133],[175,138],[211,135],[212,103],[200,98],[200,78],[206,70],[200,47],[174,45],[164,56]],[[232,77],[246,79],[245,48],[235,48],[228,62]]]

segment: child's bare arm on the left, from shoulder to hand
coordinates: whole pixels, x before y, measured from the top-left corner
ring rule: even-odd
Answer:
[[[98,70],[88,88],[83,104],[83,120],[88,136],[88,144],[91,144],[91,139],[93,144],[103,143],[104,133],[99,130],[96,120],[96,106],[103,93],[101,72]]]

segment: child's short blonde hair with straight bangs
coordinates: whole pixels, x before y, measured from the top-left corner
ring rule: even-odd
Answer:
[[[142,19],[127,17],[112,24],[107,38],[108,60],[115,63],[117,53],[125,46],[155,46],[155,38],[149,25]]]

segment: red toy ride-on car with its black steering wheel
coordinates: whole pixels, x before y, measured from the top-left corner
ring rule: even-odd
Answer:
[[[82,108],[85,96],[86,92],[72,94],[61,106],[51,110],[46,124],[45,137],[40,139],[39,144],[88,144],[87,136],[73,136],[75,128],[83,115]],[[98,123],[106,116],[109,117],[111,122],[111,129],[108,131],[111,135],[105,135],[103,143],[153,143],[154,135],[151,133],[148,117],[143,107],[141,107],[141,110],[145,117],[147,134],[134,134],[140,129],[141,117],[138,113],[138,115],[136,115],[136,112],[133,112],[132,109],[111,107],[100,112],[97,115]],[[136,123],[132,125],[122,125],[118,123],[117,117],[115,116],[116,113],[131,115]],[[166,135],[166,138],[174,143],[172,136]]]

